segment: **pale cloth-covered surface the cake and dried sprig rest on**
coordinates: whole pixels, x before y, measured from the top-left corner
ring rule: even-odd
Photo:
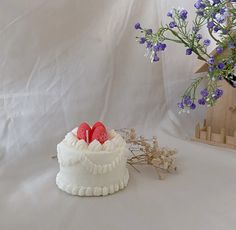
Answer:
[[[8,165],[17,172],[1,165],[1,229],[234,229],[236,152],[159,137],[179,150],[178,173],[160,181],[153,169],[129,168],[128,187],[102,198],[61,192],[50,155],[37,152]]]

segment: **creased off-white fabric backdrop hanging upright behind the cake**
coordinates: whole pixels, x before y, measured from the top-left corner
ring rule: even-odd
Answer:
[[[53,151],[62,135],[84,120],[153,133],[167,103],[176,111],[177,97],[192,76],[191,59],[186,60],[181,46],[170,45],[162,61],[152,65],[133,29],[137,21],[157,28],[173,1],[0,4],[5,157],[30,147]]]

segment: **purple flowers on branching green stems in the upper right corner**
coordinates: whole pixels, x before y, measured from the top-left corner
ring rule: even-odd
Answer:
[[[180,112],[194,110],[197,104],[215,105],[223,95],[219,83],[223,79],[236,87],[236,0],[197,0],[194,7],[196,15],[191,23],[187,10],[172,9],[167,13],[169,24],[161,25],[157,32],[135,24],[135,29],[141,32],[137,41],[146,46],[151,62],[160,60],[159,53],[167,48],[166,42],[175,42],[186,48],[186,55],[195,54],[207,64],[207,76],[196,77],[183,93],[177,104]],[[210,39],[203,38],[204,28]],[[211,42],[216,43],[215,55],[209,52]],[[200,82],[206,78],[207,86],[197,93]]]

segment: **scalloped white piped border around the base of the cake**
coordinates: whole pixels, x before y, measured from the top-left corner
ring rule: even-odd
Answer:
[[[65,184],[61,180],[60,172],[57,174],[56,177],[56,184],[59,189],[61,189],[64,192],[67,192],[72,195],[78,195],[78,196],[106,196],[109,194],[113,194],[115,192],[118,192],[119,190],[124,189],[129,181],[129,171],[126,169],[124,178],[122,181],[119,181],[118,183],[110,184],[103,187],[85,187],[85,186],[77,186],[72,184]]]

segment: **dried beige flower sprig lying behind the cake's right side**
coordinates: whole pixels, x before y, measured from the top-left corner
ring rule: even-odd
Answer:
[[[167,173],[177,170],[175,165],[176,150],[161,148],[156,137],[145,139],[137,136],[135,129],[117,130],[126,140],[132,154],[127,163],[140,172],[136,165],[150,165],[158,173],[160,179],[164,179]]]

